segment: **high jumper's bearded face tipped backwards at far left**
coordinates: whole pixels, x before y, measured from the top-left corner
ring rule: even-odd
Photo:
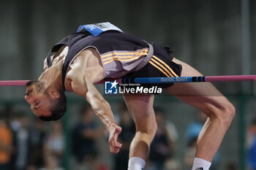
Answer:
[[[31,111],[34,112],[35,115],[51,115],[50,96],[48,93],[45,93],[45,90],[42,90],[42,85],[40,85],[40,82],[32,82],[31,85],[26,86],[25,99],[30,104]]]

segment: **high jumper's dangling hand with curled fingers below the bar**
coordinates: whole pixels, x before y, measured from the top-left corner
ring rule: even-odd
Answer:
[[[108,144],[110,146],[110,152],[118,153],[121,149],[121,143],[117,142],[118,135],[121,133],[121,127],[112,123],[108,129],[109,139]]]

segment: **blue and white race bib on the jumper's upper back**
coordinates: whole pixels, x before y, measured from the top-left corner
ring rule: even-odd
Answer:
[[[115,31],[121,31],[120,28],[114,26],[112,23],[106,22],[106,23],[92,23],[89,25],[81,25],[78,27],[78,31],[80,32],[81,30],[86,29],[89,31],[93,36],[97,36],[101,34],[104,31],[109,31],[109,30],[115,30]]]

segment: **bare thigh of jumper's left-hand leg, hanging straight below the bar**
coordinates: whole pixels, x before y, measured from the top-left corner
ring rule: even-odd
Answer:
[[[148,131],[152,127],[152,123],[155,123],[154,96],[150,94],[124,94],[124,101],[135,121],[137,130]]]

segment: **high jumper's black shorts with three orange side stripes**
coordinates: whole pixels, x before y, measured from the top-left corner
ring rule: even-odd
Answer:
[[[168,47],[154,46],[154,55],[148,61],[146,66],[137,72],[130,72],[124,78],[136,77],[180,77],[181,65],[173,62],[173,53]],[[156,84],[141,84],[144,87],[157,86],[159,88],[167,88],[173,83],[156,83]]]

